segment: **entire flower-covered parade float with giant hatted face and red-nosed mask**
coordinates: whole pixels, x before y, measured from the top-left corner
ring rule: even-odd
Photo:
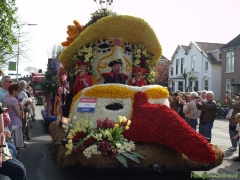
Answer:
[[[222,163],[224,152],[169,108],[168,90],[154,85],[162,48],[146,21],[103,8],[85,26],[73,23],[59,60],[69,77],[79,74],[78,64],[90,63],[94,85],[72,98],[68,117],[59,113],[49,126],[59,167],[209,170]],[[126,84],[103,84],[114,59],[122,60]],[[127,85],[134,67],[147,69],[149,85]]]

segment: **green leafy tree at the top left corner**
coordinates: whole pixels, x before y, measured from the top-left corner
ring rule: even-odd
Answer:
[[[18,28],[15,18],[17,12],[15,0],[0,0],[0,63],[6,62],[5,56],[13,52],[13,46],[18,43],[13,28]]]

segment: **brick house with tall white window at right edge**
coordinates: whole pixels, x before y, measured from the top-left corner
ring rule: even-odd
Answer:
[[[221,48],[222,51],[222,86],[221,95],[226,96],[230,89],[235,94],[240,92],[240,34]],[[234,88],[235,87],[235,88]]]

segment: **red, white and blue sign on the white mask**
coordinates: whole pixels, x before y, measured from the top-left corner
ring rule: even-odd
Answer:
[[[97,98],[80,98],[77,112],[94,112]]]

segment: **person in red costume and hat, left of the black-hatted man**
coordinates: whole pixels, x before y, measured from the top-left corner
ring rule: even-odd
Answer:
[[[87,68],[90,66],[90,62],[79,62],[78,68],[80,74],[77,75],[74,86],[73,86],[73,96],[75,96],[79,91],[86,87],[93,85],[91,76],[87,73]]]

